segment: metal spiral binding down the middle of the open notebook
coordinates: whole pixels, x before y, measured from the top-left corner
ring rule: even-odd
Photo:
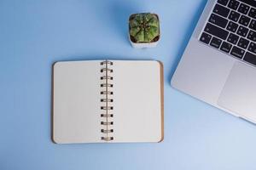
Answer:
[[[111,128],[113,121],[110,119],[113,117],[113,114],[109,112],[113,111],[113,106],[109,104],[113,103],[113,99],[111,99],[113,96],[113,91],[111,90],[113,88],[113,83],[111,83],[111,81],[113,81],[113,77],[111,76],[113,69],[109,68],[109,66],[113,65],[113,62],[105,60],[101,62],[101,65],[103,66],[101,72],[104,73],[104,75],[101,77],[101,80],[104,81],[101,83],[101,102],[102,104],[105,104],[101,106],[101,110],[104,111],[104,113],[101,114],[103,120],[101,122],[101,133],[104,134],[101,139],[105,141],[111,141],[113,140],[113,136],[111,136],[111,133],[113,133],[113,128]]]

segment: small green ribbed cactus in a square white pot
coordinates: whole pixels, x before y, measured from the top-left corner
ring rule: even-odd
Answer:
[[[160,22],[157,14],[131,14],[129,39],[134,48],[152,48],[160,40]]]

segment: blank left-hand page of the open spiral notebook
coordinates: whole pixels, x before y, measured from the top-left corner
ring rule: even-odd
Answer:
[[[97,143],[101,137],[100,60],[57,62],[53,80],[53,140]]]

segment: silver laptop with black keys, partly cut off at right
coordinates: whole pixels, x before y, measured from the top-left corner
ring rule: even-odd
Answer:
[[[208,0],[171,83],[256,123],[256,1]]]

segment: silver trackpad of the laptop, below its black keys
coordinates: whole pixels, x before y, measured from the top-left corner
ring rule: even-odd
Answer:
[[[256,69],[237,61],[218,97],[218,105],[256,122]]]

